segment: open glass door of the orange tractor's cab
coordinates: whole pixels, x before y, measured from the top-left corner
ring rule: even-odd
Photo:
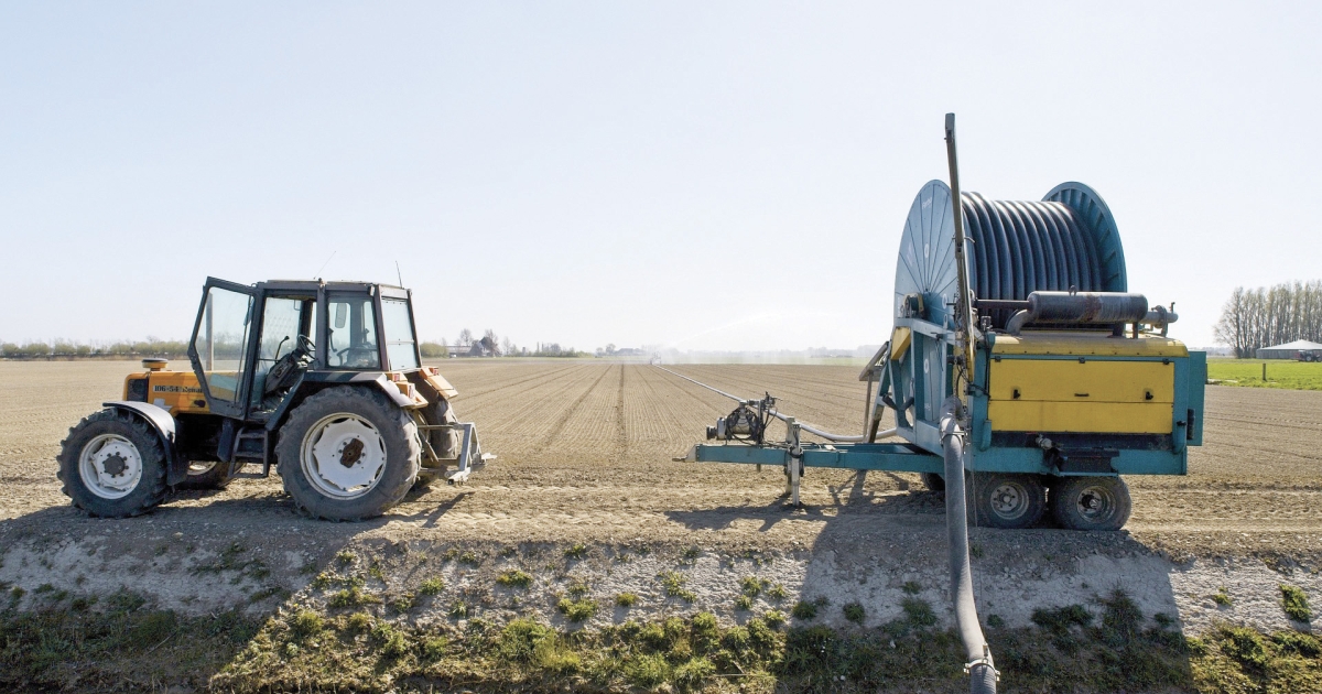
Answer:
[[[206,278],[188,358],[212,412],[243,419],[251,387],[256,288]]]

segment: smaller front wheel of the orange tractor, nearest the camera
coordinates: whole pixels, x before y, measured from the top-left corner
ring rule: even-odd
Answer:
[[[165,498],[165,448],[145,422],[115,408],[83,418],[59,443],[61,489],[100,518],[140,516]]]

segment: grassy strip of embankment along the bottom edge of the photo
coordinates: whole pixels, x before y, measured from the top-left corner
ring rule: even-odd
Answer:
[[[785,629],[705,612],[604,629],[531,619],[463,627],[290,605],[254,620],[185,617],[115,594],[0,611],[0,689],[212,691],[899,691],[960,689],[953,631],[912,616],[875,629]],[[89,603],[91,603],[90,607]],[[992,628],[1002,691],[1319,691],[1322,641],[1222,627],[1185,638],[1121,592]]]

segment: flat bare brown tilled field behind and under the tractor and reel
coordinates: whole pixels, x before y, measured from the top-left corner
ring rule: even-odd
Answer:
[[[148,521],[89,521],[54,475],[59,440],[79,416],[118,397],[134,362],[0,362],[0,539],[87,531],[186,534],[287,523],[311,535],[382,534],[436,541],[701,542],[806,546],[931,527],[941,502],[916,476],[812,471],[806,510],[785,512],[779,471],[672,461],[728,401],[646,365],[583,361],[448,361],[456,410],[500,460],[463,488],[412,494],[387,518],[334,526],[292,514],[279,479],[186,493]],[[769,390],[783,411],[834,430],[862,422],[863,386],[845,366],[680,366],[727,391]],[[1208,387],[1207,442],[1187,477],[1130,479],[1140,545],[1190,555],[1322,551],[1322,393]],[[1067,533],[1034,530],[1060,535]]]

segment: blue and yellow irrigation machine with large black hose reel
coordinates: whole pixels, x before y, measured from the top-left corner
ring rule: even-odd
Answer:
[[[859,374],[863,434],[830,434],[781,414],[771,395],[699,383],[739,405],[707,428],[720,443],[686,460],[781,465],[795,505],[806,468],[917,472],[940,490],[957,424],[974,523],[1027,527],[1050,512],[1063,527],[1118,530],[1130,510],[1121,476],[1185,475],[1188,447],[1202,444],[1207,356],[1167,337],[1174,304],[1129,293],[1120,231],[1097,193],[1066,182],[1038,202],[961,194],[953,127],[952,115],[952,185],[928,182],[910,208],[891,338]],[[887,410],[895,428],[878,431]],[[785,422],[784,442],[768,440],[772,419]]]

